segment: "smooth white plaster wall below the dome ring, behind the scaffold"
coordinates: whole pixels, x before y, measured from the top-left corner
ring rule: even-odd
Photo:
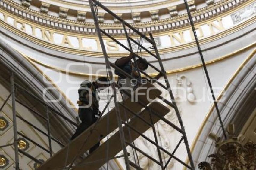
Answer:
[[[233,76],[236,69],[241,65],[241,63],[245,60],[245,58],[251,53],[251,50],[248,50],[244,53],[240,53],[234,57],[230,57],[229,59],[222,60],[215,64],[208,65],[208,72],[211,77],[212,86],[216,89],[215,96],[218,96],[218,92],[223,89],[228,80]],[[205,55],[207,58],[207,55]],[[198,61],[199,60],[199,56]],[[178,62],[179,59],[173,60],[173,62]],[[170,62],[164,62],[164,65],[169,65]],[[64,94],[76,105],[76,101],[78,99],[77,89],[80,86],[80,82],[82,82],[85,78],[78,76],[67,76],[63,73],[49,70],[41,65],[36,64],[42,71],[46,71],[46,75],[50,77],[53,82],[60,88]],[[183,71],[178,73],[179,76],[185,75],[187,79],[192,83],[191,87],[194,90],[194,95],[196,97],[196,102],[191,103],[189,101],[181,101],[178,102],[181,108],[181,115],[183,119],[183,123],[186,129],[187,138],[189,144],[192,144],[197,131],[203,122],[207,112],[209,111],[211,105],[213,104],[211,94],[209,93],[208,83],[206,82],[206,77],[204,75],[202,68],[195,68],[189,71]],[[171,83],[171,87],[177,87],[176,82],[176,74],[168,75],[168,79]],[[184,90],[186,90],[186,82],[183,83]],[[173,90],[175,94],[175,90]],[[180,91],[179,91],[180,93]],[[181,95],[181,93],[180,93]],[[76,105],[77,107],[77,105]],[[102,108],[103,106],[101,106]],[[171,136],[171,145],[172,149],[176,146],[175,143],[178,143],[180,140],[180,134],[176,132],[172,132]],[[186,149],[184,145],[182,145],[177,150],[176,156],[181,160],[185,161],[186,159]],[[183,165],[176,162],[173,169],[180,170],[183,168]]]

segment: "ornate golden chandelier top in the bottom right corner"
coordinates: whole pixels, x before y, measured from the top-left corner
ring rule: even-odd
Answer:
[[[255,170],[256,144],[248,141],[242,145],[234,134],[234,125],[228,127],[228,139],[220,141],[220,137],[210,133],[209,138],[215,140],[217,153],[211,154],[211,163],[200,162],[201,170]]]

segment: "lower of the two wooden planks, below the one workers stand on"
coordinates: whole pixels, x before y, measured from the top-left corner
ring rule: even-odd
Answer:
[[[159,102],[153,102],[150,104],[149,107],[152,108],[154,111],[156,111],[162,117],[164,117],[167,113],[170,112],[169,108],[165,107]],[[148,109],[143,110],[139,115],[143,117],[144,120],[146,120],[147,122],[150,122],[150,112],[148,111]],[[152,120],[153,120],[153,123],[156,123],[160,119],[159,117],[152,114]],[[134,117],[133,119],[131,119],[131,121],[129,122],[129,125],[141,133],[144,133],[146,130],[150,128],[148,124],[144,123],[138,117]],[[132,142],[139,137],[138,133],[130,129],[130,134],[131,134],[131,138],[130,138],[127,126],[123,126],[123,130],[124,130],[126,141],[128,142]],[[115,133],[111,138],[109,138],[108,147],[109,147],[109,150],[108,150],[109,158],[114,157],[115,155],[117,155],[117,153],[119,153],[122,150],[119,132]],[[106,163],[106,150],[107,150],[107,142],[103,143],[100,147],[98,147],[93,153],[91,153],[82,162],[80,162],[80,164],[73,167],[73,170],[99,169],[102,165]]]

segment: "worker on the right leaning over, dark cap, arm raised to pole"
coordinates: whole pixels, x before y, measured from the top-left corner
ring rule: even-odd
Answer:
[[[133,53],[130,53],[129,56],[117,59],[115,62],[116,66],[118,66],[124,72],[134,77],[133,80],[130,80],[129,78],[127,78],[126,76],[124,76],[123,74],[115,70],[114,73],[119,76],[117,80],[117,84],[119,84],[121,87],[126,87],[126,88],[129,87],[133,89],[136,86],[136,80],[138,79],[139,75],[138,75],[138,72],[136,71],[136,68],[134,67],[134,63],[131,61],[133,57],[135,57]],[[136,63],[138,65],[139,70],[144,71],[148,68],[148,63],[146,59],[139,58],[136,60]],[[123,100],[127,99],[127,97],[128,96],[123,94]]]

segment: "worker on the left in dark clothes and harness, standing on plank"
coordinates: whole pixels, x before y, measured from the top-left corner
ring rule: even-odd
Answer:
[[[76,132],[70,140],[79,136],[83,131],[96,122],[100,114],[98,91],[109,87],[110,84],[111,83],[107,77],[100,77],[95,82],[85,80],[81,83],[78,90],[79,101],[77,101],[77,104],[79,105],[79,118],[82,122],[77,127]],[[100,143],[98,142],[95,146],[90,148],[89,153],[92,153],[97,147],[99,147],[99,144]]]

